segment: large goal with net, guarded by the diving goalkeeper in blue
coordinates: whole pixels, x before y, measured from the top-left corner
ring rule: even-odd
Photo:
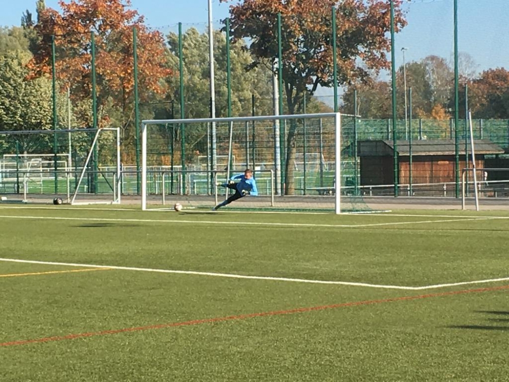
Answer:
[[[231,209],[369,210],[353,186],[353,118],[323,113],[143,121],[142,209],[176,202],[210,209],[228,196],[216,184],[249,168],[259,196],[242,198]]]

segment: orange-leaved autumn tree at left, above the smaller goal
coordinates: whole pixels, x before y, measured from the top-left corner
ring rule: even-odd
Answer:
[[[147,29],[143,16],[128,9],[129,0],[73,0],[60,1],[59,5],[61,13],[47,8],[35,26],[40,44],[30,63],[33,76],[51,75],[54,36],[56,78],[61,90],[71,87],[73,102],[90,100],[91,32],[94,32],[99,126],[108,124],[107,110],[112,112],[113,107],[121,111],[121,116],[115,119],[125,133],[134,116],[133,29],[137,32],[140,102],[165,91],[164,77],[171,70],[166,61],[164,36]],[[84,122],[91,126],[90,120]]]

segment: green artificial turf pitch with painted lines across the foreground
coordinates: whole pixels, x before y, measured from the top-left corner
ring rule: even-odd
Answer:
[[[507,213],[0,216],[2,382],[506,380]]]

